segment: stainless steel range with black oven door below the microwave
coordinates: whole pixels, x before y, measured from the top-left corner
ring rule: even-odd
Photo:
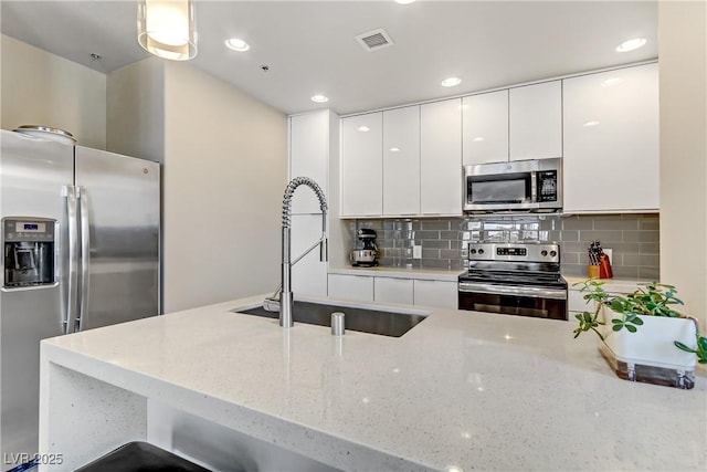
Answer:
[[[467,255],[460,310],[567,319],[559,244],[469,243]]]

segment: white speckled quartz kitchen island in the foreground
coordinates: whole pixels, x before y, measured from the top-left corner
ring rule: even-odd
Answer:
[[[43,469],[133,440],[218,470],[707,469],[704,370],[621,380],[559,321],[430,308],[399,338],[334,337],[233,313],[261,301],[42,342],[40,451],[63,462]]]

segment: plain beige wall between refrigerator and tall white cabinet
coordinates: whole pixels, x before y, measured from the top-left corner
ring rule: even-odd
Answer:
[[[274,292],[287,118],[186,63],[166,63],[165,312]]]

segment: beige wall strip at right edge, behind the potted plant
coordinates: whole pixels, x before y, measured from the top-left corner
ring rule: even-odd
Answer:
[[[707,326],[707,7],[658,3],[661,280]]]

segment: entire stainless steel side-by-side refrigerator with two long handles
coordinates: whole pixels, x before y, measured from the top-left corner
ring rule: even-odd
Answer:
[[[40,339],[159,314],[159,164],[2,130],[0,457],[38,448]]]

